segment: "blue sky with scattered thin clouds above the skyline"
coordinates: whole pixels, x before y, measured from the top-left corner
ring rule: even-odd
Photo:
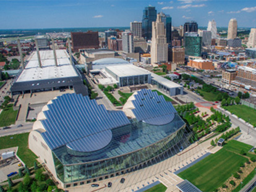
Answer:
[[[217,27],[227,27],[236,18],[238,27],[256,27],[256,0],[0,0],[0,29],[128,27],[131,21],[142,20],[149,5],[171,15],[174,26],[195,20],[205,27],[215,19]]]

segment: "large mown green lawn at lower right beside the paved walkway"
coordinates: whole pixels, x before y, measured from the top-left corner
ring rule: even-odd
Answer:
[[[214,191],[239,169],[246,158],[236,154],[242,149],[252,148],[238,141],[229,141],[223,149],[211,154],[197,164],[179,173],[179,177],[189,180],[202,191]]]

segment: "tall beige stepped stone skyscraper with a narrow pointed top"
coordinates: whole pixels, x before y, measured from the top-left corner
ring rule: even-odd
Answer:
[[[156,22],[152,23],[151,63],[168,61],[168,43],[166,43],[166,29],[158,14]]]

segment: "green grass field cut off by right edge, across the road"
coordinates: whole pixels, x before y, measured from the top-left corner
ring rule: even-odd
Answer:
[[[256,125],[256,110],[244,105],[224,106],[224,109],[237,115],[246,122]]]

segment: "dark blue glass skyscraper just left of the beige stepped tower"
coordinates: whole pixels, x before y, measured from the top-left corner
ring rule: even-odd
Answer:
[[[142,35],[147,40],[151,40],[152,36],[152,22],[156,20],[155,7],[145,7],[142,17]]]

